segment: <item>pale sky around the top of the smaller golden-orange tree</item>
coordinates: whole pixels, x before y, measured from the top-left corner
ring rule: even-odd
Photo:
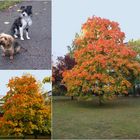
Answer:
[[[6,95],[8,91],[6,84],[8,84],[9,79],[16,76],[20,77],[26,73],[32,74],[40,82],[44,77],[51,76],[51,70],[0,70],[0,95]],[[51,84],[43,85],[44,91],[50,91],[51,89]]]

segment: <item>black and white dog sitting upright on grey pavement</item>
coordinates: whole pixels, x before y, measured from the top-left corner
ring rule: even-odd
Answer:
[[[29,26],[32,25],[32,6],[21,6],[20,8],[21,14],[20,16],[14,21],[11,33],[15,38],[18,38],[18,35],[20,36],[21,40],[24,40],[23,33],[24,30],[26,32],[26,38],[30,39],[29,37]]]

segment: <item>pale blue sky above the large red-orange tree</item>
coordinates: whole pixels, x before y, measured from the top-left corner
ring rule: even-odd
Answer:
[[[53,0],[53,62],[67,53],[75,33],[93,15],[119,23],[125,41],[140,38],[140,0]]]

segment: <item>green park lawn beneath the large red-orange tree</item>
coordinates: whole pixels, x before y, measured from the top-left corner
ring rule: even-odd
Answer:
[[[53,98],[54,139],[140,139],[140,97],[93,101]]]

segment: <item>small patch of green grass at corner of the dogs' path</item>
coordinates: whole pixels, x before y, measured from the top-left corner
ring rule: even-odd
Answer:
[[[5,10],[8,7],[10,7],[16,3],[19,3],[21,1],[22,0],[3,0],[3,1],[0,1],[0,10]]]

